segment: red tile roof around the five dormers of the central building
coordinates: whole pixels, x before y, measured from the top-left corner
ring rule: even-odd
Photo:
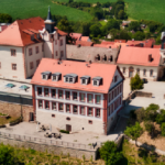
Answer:
[[[31,84],[107,94],[109,91],[110,85],[112,82],[117,69],[119,70],[117,65],[97,64],[97,63],[89,64],[73,61],[62,61],[62,64],[58,64],[57,59],[43,58],[31,80]],[[52,81],[52,79],[44,80],[42,79],[41,76],[41,73],[43,72],[62,73],[62,80],[59,81]],[[64,75],[67,74],[78,75],[78,81],[75,84],[64,82]],[[90,76],[91,79],[94,77],[100,76],[102,77],[102,85],[92,86],[92,82],[90,80],[90,84],[84,86],[80,84],[80,77],[82,76]]]

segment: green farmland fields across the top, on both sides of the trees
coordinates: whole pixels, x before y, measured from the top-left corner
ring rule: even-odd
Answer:
[[[47,14],[47,7],[51,6],[52,13],[57,15],[67,15],[70,21],[90,21],[91,15],[88,12],[73,9],[69,7],[56,4],[55,1],[67,2],[68,0],[0,0],[0,13],[9,13],[13,19],[42,16]],[[75,0],[96,3],[98,1],[116,0]],[[165,23],[165,1],[162,0],[124,0],[127,2],[127,12],[131,20],[153,20]],[[16,6],[15,6],[16,4]]]

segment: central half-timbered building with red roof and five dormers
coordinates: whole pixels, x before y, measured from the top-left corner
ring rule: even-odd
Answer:
[[[31,81],[34,119],[107,134],[122,109],[123,80],[117,65],[43,58]]]

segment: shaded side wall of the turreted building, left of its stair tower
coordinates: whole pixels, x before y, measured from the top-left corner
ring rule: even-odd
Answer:
[[[25,67],[26,67],[26,78],[34,75],[37,66],[36,61],[41,61],[44,56],[44,52],[42,52],[43,43],[37,43],[33,45],[25,46]],[[38,53],[36,54],[35,47],[38,46]],[[32,55],[29,55],[29,50],[32,48]],[[33,69],[30,68],[30,63],[33,62]]]

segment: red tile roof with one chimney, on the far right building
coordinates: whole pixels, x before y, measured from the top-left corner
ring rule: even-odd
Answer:
[[[152,55],[152,62],[148,62],[148,55]],[[117,64],[158,66],[161,54],[158,48],[123,46],[120,50]]]

